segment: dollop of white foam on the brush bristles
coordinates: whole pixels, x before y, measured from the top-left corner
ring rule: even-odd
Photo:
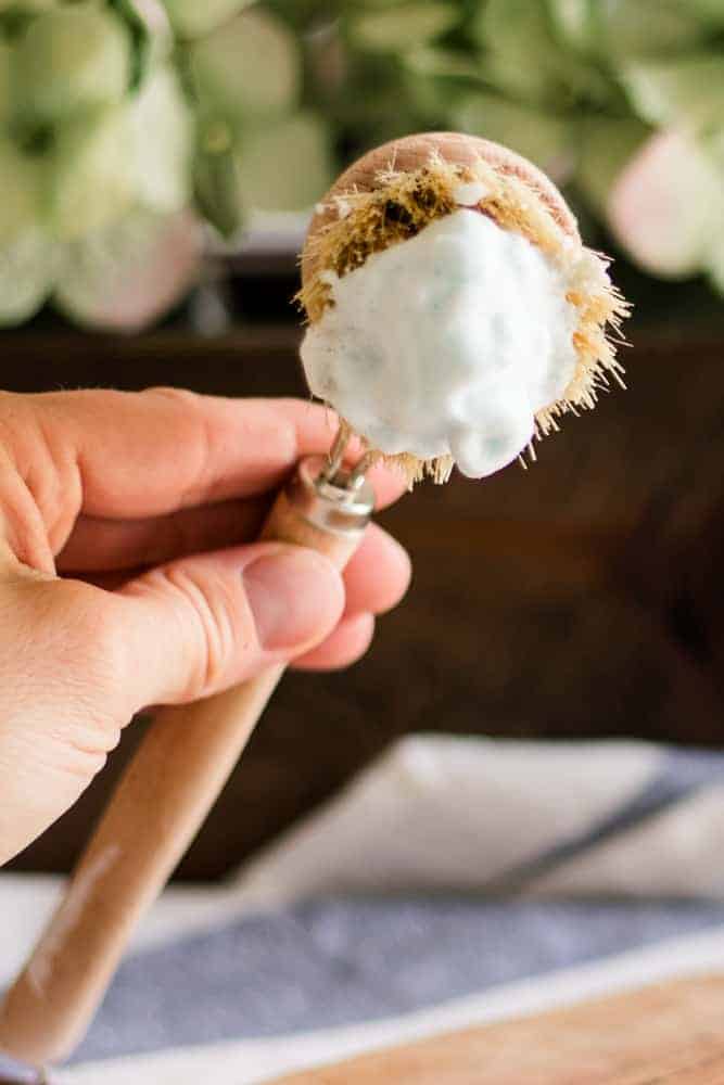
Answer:
[[[334,304],[305,334],[307,381],[382,452],[452,455],[463,474],[492,474],[575,371],[563,272],[479,212],[325,279]]]

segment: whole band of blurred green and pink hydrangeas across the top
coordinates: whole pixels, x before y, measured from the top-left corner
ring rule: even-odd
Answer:
[[[0,0],[0,322],[137,328],[204,224],[416,128],[500,140],[724,291],[724,0]]]

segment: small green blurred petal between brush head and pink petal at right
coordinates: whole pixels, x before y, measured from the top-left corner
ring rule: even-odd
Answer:
[[[650,135],[650,127],[635,117],[592,117],[581,125],[575,182],[596,214],[605,215],[617,178]]]

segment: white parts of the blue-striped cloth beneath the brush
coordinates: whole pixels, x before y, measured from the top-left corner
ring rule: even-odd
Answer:
[[[529,892],[722,899],[724,782],[714,778],[694,787],[674,805],[655,806],[644,820],[596,837],[597,826],[651,792],[666,771],[671,775],[671,753],[637,742],[406,739],[230,883],[168,890],[141,924],[131,952],[325,893],[470,892],[592,831],[583,854],[535,877]],[[20,967],[61,889],[53,877],[0,876],[0,985]],[[130,1056],[68,1069],[56,1080],[63,1085],[195,1085],[200,1080],[245,1085],[373,1046],[716,968],[724,968],[724,928],[404,1018]]]

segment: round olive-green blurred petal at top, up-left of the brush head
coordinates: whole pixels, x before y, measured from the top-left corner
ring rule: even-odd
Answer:
[[[288,111],[300,91],[296,39],[263,9],[243,11],[192,42],[188,63],[202,107],[239,124]]]

